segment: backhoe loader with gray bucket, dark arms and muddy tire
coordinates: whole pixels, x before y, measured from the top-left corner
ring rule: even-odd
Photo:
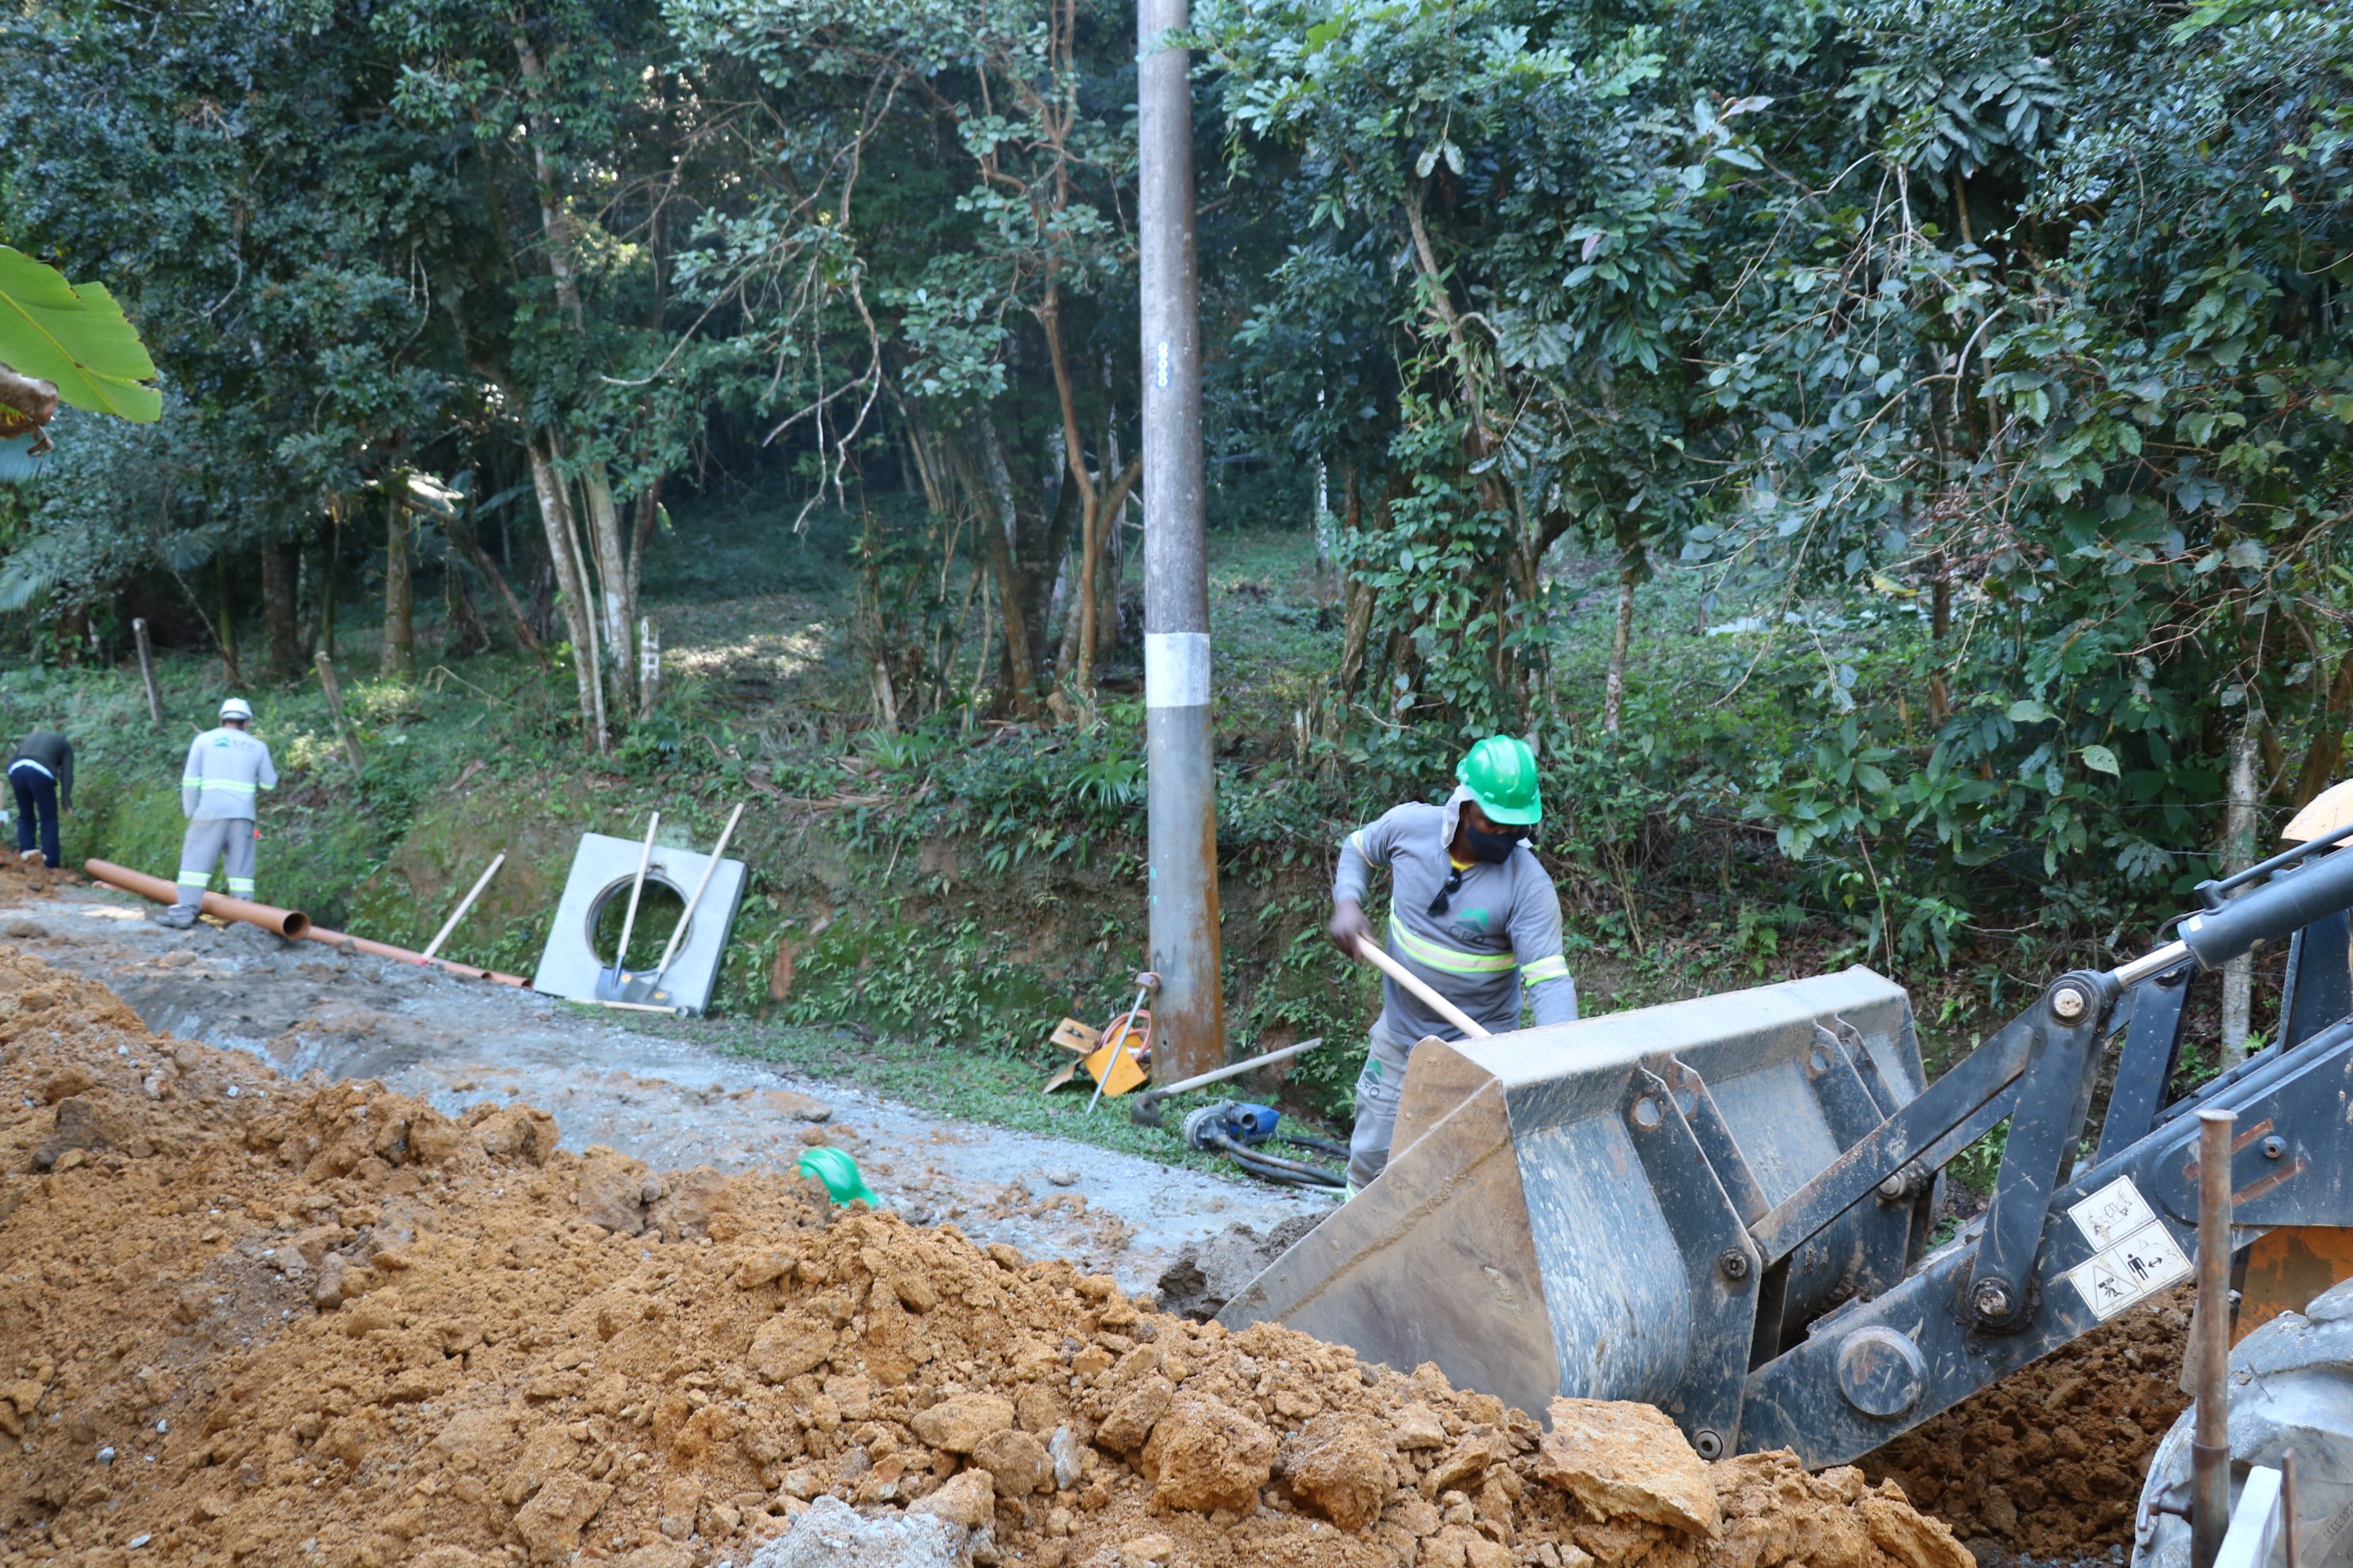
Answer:
[[[1861,966],[1424,1039],[1388,1168],[1219,1319],[1525,1410],[1647,1401],[1711,1460],[1842,1465],[2188,1281],[2195,1112],[2233,1110],[2233,1467],[2297,1448],[2304,1568],[2353,1568],[2353,783],[2287,839],[1934,1084],[1904,990]],[[2259,943],[2287,943],[2275,1039],[2177,1095],[2191,987]],[[1944,1168],[1995,1128],[1986,1211],[1939,1239]],[[2144,1486],[2153,1568],[2188,1561],[2186,1450]]]

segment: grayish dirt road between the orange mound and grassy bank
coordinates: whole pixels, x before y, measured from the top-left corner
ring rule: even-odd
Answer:
[[[1188,1241],[1266,1232],[1327,1199],[1162,1166],[1061,1138],[925,1117],[772,1063],[635,1032],[532,992],[280,943],[252,926],[169,931],[113,889],[0,891],[0,936],[104,980],[158,1032],[249,1051],[287,1077],[381,1079],[459,1114],[485,1098],[555,1114],[567,1150],[654,1168],[791,1171],[809,1143],[849,1150],[918,1225],[1068,1258],[1125,1291]]]

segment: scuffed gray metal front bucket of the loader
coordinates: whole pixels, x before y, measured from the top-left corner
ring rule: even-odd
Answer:
[[[1864,1199],[1772,1272],[1748,1225],[1920,1088],[1911,1004],[1868,969],[1424,1039],[1388,1168],[1219,1321],[1435,1361],[1522,1410],[1640,1399],[1718,1458],[1784,1324],[1802,1335],[1904,1276],[1929,1182]]]

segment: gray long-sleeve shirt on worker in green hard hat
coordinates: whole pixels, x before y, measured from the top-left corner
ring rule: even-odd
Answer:
[[[1457,790],[1445,806],[1395,806],[1341,839],[1332,900],[1365,903],[1372,867],[1386,865],[1388,957],[1499,1034],[1520,1027],[1522,985],[1539,1025],[1574,1023],[1577,980],[1560,954],[1560,893],[1527,844],[1501,865],[1478,860],[1461,867],[1445,914],[1431,914],[1431,903],[1457,870],[1447,846],[1468,797],[1468,790]],[[1426,1034],[1461,1039],[1461,1030],[1395,980],[1381,983],[1374,1030],[1400,1048]]]

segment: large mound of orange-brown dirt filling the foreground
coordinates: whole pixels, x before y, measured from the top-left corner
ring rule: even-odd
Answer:
[[[1857,1469],[1546,1436],[802,1182],[289,1084],[9,947],[0,1260],[12,1563],[800,1561],[833,1497],[1042,1568],[1969,1568]]]

